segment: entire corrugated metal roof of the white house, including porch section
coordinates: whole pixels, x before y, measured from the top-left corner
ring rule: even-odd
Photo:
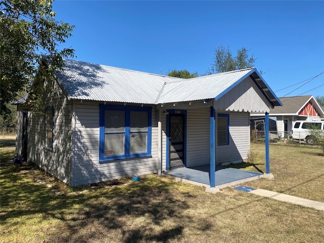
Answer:
[[[138,104],[217,100],[250,76],[272,106],[281,105],[255,68],[182,79],[75,60],[64,63],[57,77],[69,99]]]

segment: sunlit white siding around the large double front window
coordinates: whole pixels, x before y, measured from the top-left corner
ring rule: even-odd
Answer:
[[[99,104],[77,103],[74,108],[72,185],[97,183],[125,175],[157,173],[158,133],[152,109],[152,157],[99,163]]]

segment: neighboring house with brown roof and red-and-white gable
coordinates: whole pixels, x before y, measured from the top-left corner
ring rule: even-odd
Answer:
[[[277,132],[284,138],[290,135],[296,120],[320,120],[324,112],[312,95],[279,98],[282,106],[270,110],[269,116],[277,120]],[[251,118],[264,117],[252,112]]]

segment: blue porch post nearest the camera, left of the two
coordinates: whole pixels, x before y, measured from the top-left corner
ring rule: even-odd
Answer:
[[[215,146],[216,146],[216,134],[215,134],[215,109],[211,106],[211,121],[210,121],[210,137],[211,137],[211,146],[210,146],[210,153],[211,153],[211,161],[210,161],[210,183],[211,187],[215,187],[215,163],[216,163],[216,156],[215,156]]]

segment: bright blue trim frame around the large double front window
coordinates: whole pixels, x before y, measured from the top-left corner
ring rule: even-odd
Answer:
[[[152,150],[152,107],[148,106],[130,106],[130,105],[99,105],[99,161],[113,161],[119,159],[151,157]],[[105,111],[106,110],[120,110],[125,111],[125,147],[124,154],[104,156],[105,149]],[[131,111],[146,111],[147,112],[147,152],[146,153],[130,153],[130,133],[131,133]]]

